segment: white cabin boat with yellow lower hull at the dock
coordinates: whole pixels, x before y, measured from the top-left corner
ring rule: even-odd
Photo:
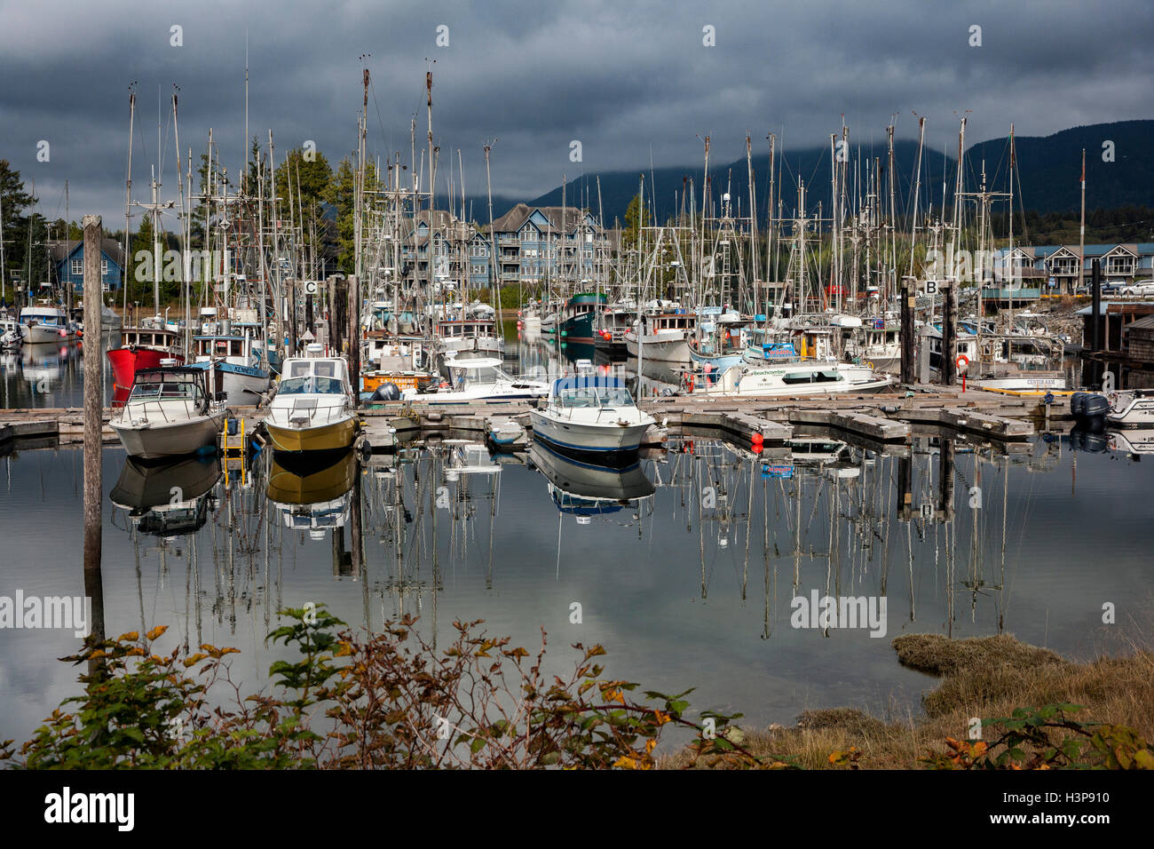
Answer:
[[[345,360],[338,357],[286,359],[277,394],[269,402],[264,427],[277,452],[346,450],[357,438],[358,419]]]

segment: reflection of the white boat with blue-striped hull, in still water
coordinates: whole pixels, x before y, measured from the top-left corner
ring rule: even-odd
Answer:
[[[542,442],[533,442],[530,460],[548,479],[549,497],[563,514],[589,524],[592,516],[617,513],[657,491],[640,462],[624,468],[593,466],[557,454]]]

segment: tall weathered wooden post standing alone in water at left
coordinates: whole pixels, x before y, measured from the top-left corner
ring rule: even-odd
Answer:
[[[104,482],[100,431],[104,427],[104,351],[100,334],[100,216],[84,224],[84,595],[92,599],[92,635],[104,639],[104,587],[100,575],[100,507]]]

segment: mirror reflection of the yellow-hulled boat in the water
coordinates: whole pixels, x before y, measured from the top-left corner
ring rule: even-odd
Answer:
[[[319,462],[273,452],[264,494],[285,527],[323,539],[325,530],[343,528],[349,521],[355,479],[357,453],[351,448],[336,460]]]

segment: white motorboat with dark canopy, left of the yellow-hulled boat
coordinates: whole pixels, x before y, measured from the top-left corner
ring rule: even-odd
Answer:
[[[155,460],[215,449],[225,415],[209,397],[203,370],[164,366],[136,372],[111,425],[130,456]]]

